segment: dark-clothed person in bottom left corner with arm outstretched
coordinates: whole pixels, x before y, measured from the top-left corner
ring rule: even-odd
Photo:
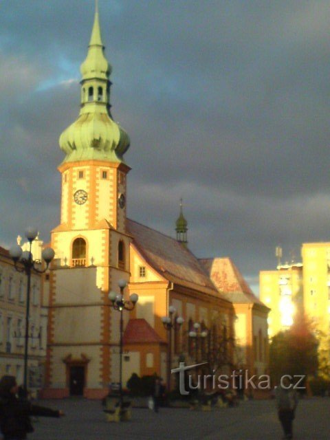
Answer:
[[[3,440],[23,440],[33,432],[30,416],[61,417],[62,411],[32,405],[26,398],[17,397],[16,377],[5,375],[0,380],[0,430]]]

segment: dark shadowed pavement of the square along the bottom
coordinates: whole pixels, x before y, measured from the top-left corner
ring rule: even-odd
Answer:
[[[245,401],[236,408],[210,412],[161,408],[159,413],[133,408],[131,421],[109,423],[100,401],[41,401],[65,411],[61,419],[40,417],[30,440],[276,440],[282,438],[275,403]],[[294,421],[296,440],[330,438],[330,398],[300,400]]]

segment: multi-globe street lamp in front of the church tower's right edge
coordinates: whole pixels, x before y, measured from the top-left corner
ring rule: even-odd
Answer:
[[[124,288],[127,285],[126,280],[119,280],[118,287],[120,288],[120,294],[116,294],[116,292],[109,292],[109,300],[111,300],[112,307],[114,310],[120,311],[120,366],[119,366],[119,404],[120,408],[122,407],[122,333],[123,333],[123,319],[122,319],[122,311],[123,310],[133,310],[137,301],[139,300],[139,296],[137,294],[131,294],[129,300],[124,299]]]

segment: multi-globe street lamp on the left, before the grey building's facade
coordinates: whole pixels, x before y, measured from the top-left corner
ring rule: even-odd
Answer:
[[[43,274],[48,269],[50,262],[54,259],[55,252],[52,248],[45,248],[41,253],[42,259],[46,266],[43,270],[37,267],[41,264],[41,260],[34,260],[32,256],[32,242],[36,239],[38,230],[28,228],[25,231],[25,237],[30,243],[30,250],[23,251],[20,245],[13,245],[9,250],[10,257],[14,261],[14,267],[17,272],[25,272],[28,277],[28,286],[26,289],[26,311],[25,311],[25,345],[24,345],[24,377],[23,377],[23,391],[24,395],[28,395],[28,346],[29,346],[29,314],[30,314],[30,289],[31,289],[31,274]],[[18,265],[21,263],[21,265]]]

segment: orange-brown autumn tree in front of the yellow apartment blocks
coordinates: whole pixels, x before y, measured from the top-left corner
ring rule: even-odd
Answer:
[[[270,344],[270,375],[278,383],[283,375],[315,375],[318,340],[304,314],[297,314],[292,327],[281,331]]]

